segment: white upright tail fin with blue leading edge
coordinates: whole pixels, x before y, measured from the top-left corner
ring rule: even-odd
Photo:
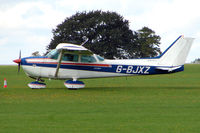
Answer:
[[[184,65],[194,38],[179,36],[159,57],[161,66]]]

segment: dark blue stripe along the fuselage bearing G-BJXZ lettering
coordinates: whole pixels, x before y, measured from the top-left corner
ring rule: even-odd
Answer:
[[[30,58],[29,58],[30,59]],[[84,64],[84,63],[81,63]],[[86,63],[88,64],[88,63]],[[44,63],[27,63],[25,58],[23,59],[22,65],[28,66],[38,66],[38,67],[50,67],[56,68],[57,63],[46,64]],[[90,65],[77,65],[75,63],[69,64],[61,64],[60,68],[62,69],[73,69],[73,70],[85,70],[85,71],[96,71],[96,72],[109,72],[109,73],[122,73],[122,74],[137,74],[137,75],[152,75],[152,74],[167,74],[167,73],[174,73],[183,71],[184,66],[181,66],[178,69],[173,71],[165,71],[165,70],[158,70],[156,69],[157,66],[143,66],[143,65],[110,65],[110,67],[102,67],[102,66],[93,66],[91,63]],[[171,68],[171,67],[166,67]]]

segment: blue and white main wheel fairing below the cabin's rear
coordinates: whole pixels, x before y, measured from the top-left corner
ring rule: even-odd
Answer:
[[[84,88],[85,84],[82,81],[77,81],[77,79],[73,78],[73,80],[67,80],[65,81],[64,85],[69,90],[78,90],[80,88]]]

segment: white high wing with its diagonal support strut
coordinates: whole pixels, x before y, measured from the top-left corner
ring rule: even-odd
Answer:
[[[55,77],[58,77],[58,72],[60,69],[60,64],[62,61],[63,54],[65,52],[72,53],[72,54],[84,54],[84,55],[93,55],[92,51],[88,50],[87,48],[81,45],[75,45],[71,43],[60,43],[56,47],[56,49],[61,50],[60,55],[58,57],[58,64],[55,72]]]

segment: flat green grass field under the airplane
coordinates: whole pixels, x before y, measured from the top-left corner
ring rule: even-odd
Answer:
[[[77,91],[58,80],[32,90],[31,81],[17,66],[0,66],[0,133],[200,132],[200,65],[170,75],[85,79]]]

